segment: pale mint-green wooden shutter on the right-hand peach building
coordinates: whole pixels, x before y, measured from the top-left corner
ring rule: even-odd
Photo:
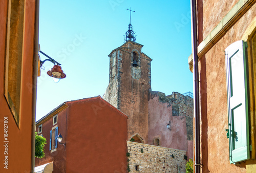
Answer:
[[[245,42],[225,50],[230,163],[250,158]]]

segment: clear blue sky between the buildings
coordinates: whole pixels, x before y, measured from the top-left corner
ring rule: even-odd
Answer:
[[[37,81],[36,120],[65,101],[103,96],[109,84],[111,51],[124,43],[130,23],[142,52],[151,57],[152,91],[193,92],[190,1],[40,1],[39,44],[67,75],[54,83],[46,72]],[[46,59],[41,55],[41,60]]]

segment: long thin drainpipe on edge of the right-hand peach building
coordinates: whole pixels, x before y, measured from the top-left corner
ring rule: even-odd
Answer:
[[[194,115],[195,115],[195,173],[200,172],[200,114],[199,114],[199,75],[197,55],[197,6],[196,0],[191,0],[191,33],[192,55],[194,64]]]

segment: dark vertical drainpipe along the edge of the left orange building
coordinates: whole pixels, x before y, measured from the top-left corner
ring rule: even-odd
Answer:
[[[33,107],[32,107],[32,134],[31,134],[31,172],[35,167],[35,112],[36,112],[36,90],[38,70],[38,33],[39,33],[39,0],[35,0],[35,42],[33,59]]]

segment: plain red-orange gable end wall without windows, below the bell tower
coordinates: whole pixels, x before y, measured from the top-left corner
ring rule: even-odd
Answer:
[[[67,172],[126,172],[127,117],[101,98],[68,105]]]

